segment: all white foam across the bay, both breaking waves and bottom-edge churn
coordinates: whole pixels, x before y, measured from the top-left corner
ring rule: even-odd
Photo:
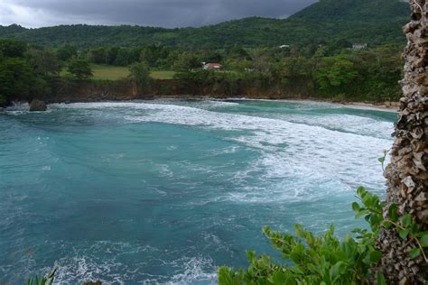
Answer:
[[[265,118],[256,116],[256,114],[250,116],[219,113],[211,110],[211,106],[215,109],[216,106],[223,104],[226,104],[224,106],[230,105],[227,102],[218,101],[181,102],[182,105],[187,104],[188,106],[176,106],[173,101],[167,100],[161,103],[79,103],[50,107],[53,110],[55,108],[84,109],[79,112],[85,115],[108,116],[109,119],[118,119],[119,122],[129,124],[145,122],[180,124],[199,132],[217,135],[219,140],[228,142],[228,146],[225,148],[219,146],[203,152],[201,155],[204,161],[209,161],[215,156],[230,155],[235,161],[225,161],[224,163],[233,164],[242,157],[239,156],[241,152],[255,153],[251,158],[251,163],[239,164],[243,165],[240,169],[230,167],[229,170],[233,171],[231,173],[221,172],[223,171],[221,167],[224,165],[205,165],[195,161],[178,161],[171,165],[163,162],[154,163],[153,169],[161,177],[164,179],[177,178],[176,184],[187,191],[200,188],[200,184],[198,184],[200,181],[181,180],[180,176],[185,176],[183,173],[186,171],[200,172],[214,180],[229,179],[224,185],[219,183],[217,191],[214,193],[197,193],[195,191],[197,195],[194,198],[182,202],[188,203],[186,206],[190,207],[209,203],[231,203],[234,204],[233,206],[235,203],[269,203],[269,206],[283,207],[284,210],[287,206],[284,202],[301,201],[321,207],[323,198],[342,198],[342,195],[351,197],[352,189],[359,184],[370,188],[383,188],[384,179],[377,157],[381,155],[380,152],[383,149],[388,149],[392,144],[391,139],[387,136],[387,132],[392,130],[392,124],[357,115],[312,115],[307,117],[304,115],[275,115]],[[308,110],[312,108],[312,106],[299,107]],[[76,114],[80,115],[79,112]],[[70,113],[74,114],[74,112]],[[45,144],[42,150],[49,149],[47,147],[49,146],[48,139],[35,136],[34,141],[36,146],[40,143]],[[166,149],[168,152],[181,151],[181,148],[175,144]],[[23,152],[24,155],[25,152]],[[122,160],[124,155],[120,152],[112,153],[102,157],[102,160],[115,163],[115,161]],[[38,168],[43,170],[46,160],[39,161],[43,161],[43,163]],[[13,162],[12,166],[22,167],[23,165],[21,161],[19,165],[14,165],[14,163],[16,162]],[[55,169],[52,167],[52,170]],[[233,189],[222,188],[225,185],[231,185]],[[146,189],[152,188],[147,186]],[[159,188],[154,187],[153,190],[159,195],[168,195]],[[31,220],[34,223],[41,219],[41,217],[20,210],[21,198],[27,199],[26,196],[10,197],[12,202],[10,207],[14,207],[14,211],[10,211],[12,214],[3,215],[7,217],[0,225],[4,227],[16,225],[23,219]],[[312,203],[314,201],[317,203]],[[344,199],[345,202],[347,201]],[[330,206],[331,204],[324,204],[324,207]],[[265,206],[262,207],[265,208]],[[331,213],[344,211],[343,208],[329,208],[329,211],[317,212],[316,215],[318,217],[331,215]],[[291,208],[286,210],[293,211]],[[296,216],[297,222],[300,222],[298,219],[304,215],[302,213],[299,215],[298,210],[294,209],[294,211],[297,211],[296,215],[292,213],[290,216]],[[5,212],[9,212],[9,208],[5,208],[2,213]],[[308,213],[308,216],[312,215],[315,214]],[[313,223],[318,223],[315,217],[309,219]],[[232,217],[226,219],[228,218],[232,219]],[[307,222],[308,217],[303,218]],[[213,225],[224,226],[224,220],[213,220]],[[21,231],[24,231],[24,228]],[[23,236],[23,233],[15,235]],[[214,244],[215,250],[229,251],[230,249],[223,244],[225,242],[219,236],[209,230],[200,232],[200,239],[206,244]],[[102,278],[105,278],[102,281],[107,284],[134,283],[136,281],[144,284],[205,284],[216,281],[217,264],[206,255],[196,253],[194,256],[189,256],[193,253],[186,252],[186,249],[168,253],[168,250],[162,249],[161,246],[158,249],[144,244],[108,241],[83,244],[58,242],[58,244],[52,244],[51,248],[64,253],[63,258],[58,261],[57,280],[60,284],[75,284],[88,280],[102,280]],[[228,253],[233,255],[231,251]],[[140,263],[130,262],[134,258],[138,258]],[[25,262],[26,265],[28,264],[27,268],[36,266],[32,256],[25,257]],[[156,264],[159,264],[161,268],[167,268],[168,271],[149,272],[150,269],[154,269],[153,266]],[[0,272],[10,271],[9,268],[0,267]]]

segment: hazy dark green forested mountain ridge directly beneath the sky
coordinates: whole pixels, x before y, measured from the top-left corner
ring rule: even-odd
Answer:
[[[14,24],[0,26],[0,37],[42,46],[70,43],[79,47],[165,44],[221,48],[340,40],[367,42],[369,45],[404,45],[401,26],[407,22],[408,14],[408,5],[398,0],[321,0],[284,20],[249,17],[180,29],[85,24],[26,29]]]

